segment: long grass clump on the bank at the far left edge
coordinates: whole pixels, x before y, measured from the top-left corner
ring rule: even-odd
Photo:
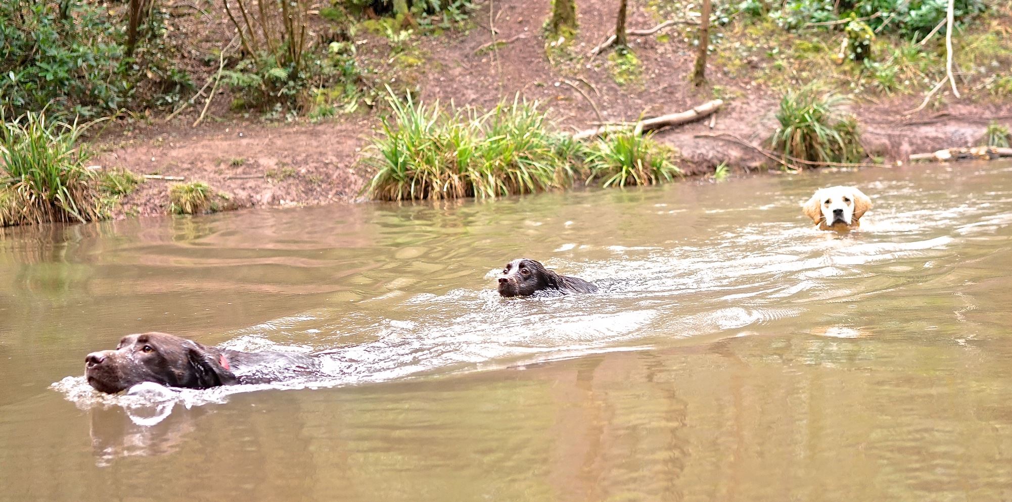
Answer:
[[[51,120],[43,110],[0,122],[0,226],[100,217],[91,152],[78,144],[94,121]]]

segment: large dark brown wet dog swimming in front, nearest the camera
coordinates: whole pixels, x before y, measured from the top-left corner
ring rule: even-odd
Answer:
[[[88,385],[109,394],[141,382],[187,389],[270,383],[312,374],[319,364],[302,354],[242,353],[159,332],[129,334],[115,350],[91,353],[84,361]]]

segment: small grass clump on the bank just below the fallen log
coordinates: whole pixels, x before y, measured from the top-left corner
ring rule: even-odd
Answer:
[[[655,185],[682,174],[672,163],[677,152],[654,140],[653,134],[632,130],[614,132],[597,139],[590,146],[587,166],[590,177],[604,180],[604,187]]]

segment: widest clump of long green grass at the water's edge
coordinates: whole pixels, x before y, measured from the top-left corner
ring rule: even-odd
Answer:
[[[372,138],[367,193],[383,200],[495,198],[568,187],[565,162],[579,147],[550,131],[546,112],[518,98],[481,113],[389,98],[392,114]]]

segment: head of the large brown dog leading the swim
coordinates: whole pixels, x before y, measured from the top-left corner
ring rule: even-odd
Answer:
[[[129,334],[115,350],[91,353],[84,362],[88,385],[109,394],[141,382],[189,389],[236,383],[221,350],[167,333]]]

